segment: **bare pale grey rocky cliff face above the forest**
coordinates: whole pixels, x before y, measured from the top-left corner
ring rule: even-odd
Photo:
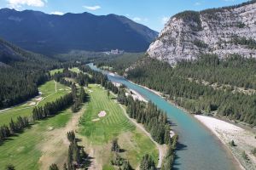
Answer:
[[[256,1],[176,14],[147,53],[171,65],[181,59],[196,59],[199,54],[256,58]]]

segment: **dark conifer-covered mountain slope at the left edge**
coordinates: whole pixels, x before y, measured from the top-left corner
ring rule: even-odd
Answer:
[[[38,94],[37,86],[55,60],[33,54],[0,39],[0,108],[19,104]]]

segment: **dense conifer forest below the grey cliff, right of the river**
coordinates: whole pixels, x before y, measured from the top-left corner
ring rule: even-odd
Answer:
[[[163,92],[168,99],[192,113],[215,113],[232,120],[256,125],[256,95],[234,93],[230,89],[214,89],[191,81],[205,80],[255,88],[255,59],[234,55],[227,59],[202,55],[195,61],[181,61],[172,68],[156,59],[143,58],[128,71],[128,78],[148,88]],[[254,78],[253,78],[254,77]]]

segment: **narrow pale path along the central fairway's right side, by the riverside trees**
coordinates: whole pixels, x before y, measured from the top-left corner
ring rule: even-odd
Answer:
[[[120,105],[120,104],[119,104]],[[122,110],[125,113],[125,116],[131,121],[133,122],[138,128],[140,128],[147,136],[149,139],[152,140],[152,142],[154,142],[154,144],[156,145],[157,149],[159,150],[159,161],[157,164],[157,167],[160,168],[162,165],[162,161],[164,159],[164,156],[166,155],[166,144],[158,144],[157,142],[154,141],[154,139],[152,138],[151,134],[148,133],[146,131],[146,129],[143,127],[142,124],[137,123],[137,121],[135,119],[132,119],[130,116],[127,115],[125,108],[123,107],[123,105],[120,105],[120,107],[122,108]]]

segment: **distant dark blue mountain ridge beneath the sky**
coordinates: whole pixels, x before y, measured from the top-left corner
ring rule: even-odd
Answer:
[[[0,9],[0,37],[42,54],[114,48],[143,52],[157,35],[148,27],[115,14],[55,15],[32,10]]]

